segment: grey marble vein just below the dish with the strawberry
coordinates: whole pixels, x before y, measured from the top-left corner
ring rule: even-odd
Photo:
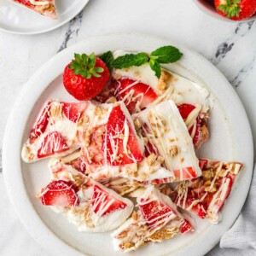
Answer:
[[[214,65],[218,65],[220,61],[224,59],[224,57],[231,51],[236,41],[239,38],[244,37],[247,32],[250,31],[254,23],[254,20],[248,22],[238,23],[236,26],[235,32],[231,35],[230,38],[221,44],[218,45],[215,55],[212,56],[211,61]]]

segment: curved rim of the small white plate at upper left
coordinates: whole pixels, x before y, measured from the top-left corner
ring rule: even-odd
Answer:
[[[39,35],[39,34],[44,34],[46,32],[51,32],[61,26],[64,26],[65,24],[67,24],[67,22],[69,22],[70,20],[72,20],[76,15],[79,15],[79,13],[81,11],[83,11],[84,7],[90,2],[90,0],[84,0],[84,4],[81,4],[81,7],[79,9],[77,9],[73,15],[70,15],[70,17],[67,18],[67,20],[63,20],[61,23],[56,24],[55,26],[49,27],[47,29],[43,29],[37,32],[18,32],[18,31],[11,31],[9,29],[5,29],[2,26],[0,26],[0,31],[1,32],[7,32],[9,34],[14,34],[14,35],[24,35],[24,36],[29,36],[29,35]]]

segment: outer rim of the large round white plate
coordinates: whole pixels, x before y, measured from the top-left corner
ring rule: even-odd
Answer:
[[[13,182],[12,177],[14,177],[14,176],[12,176],[11,173],[8,172],[8,170],[10,171],[10,170],[12,170],[12,168],[8,164],[9,154],[8,154],[8,151],[6,150],[6,148],[9,147],[8,137],[10,137],[9,131],[11,130],[10,128],[11,128],[11,125],[12,125],[12,120],[14,120],[14,118],[15,118],[15,108],[19,107],[19,104],[20,104],[20,101],[21,101],[22,97],[26,94],[26,91],[30,89],[31,84],[32,84],[32,80],[36,79],[37,76],[41,72],[43,72],[43,70],[45,68],[49,67],[52,63],[54,63],[56,60],[58,60],[61,56],[69,55],[70,52],[73,49],[79,48],[79,45],[82,45],[82,44],[86,44],[86,43],[90,43],[91,44],[92,42],[94,42],[96,40],[99,40],[99,39],[102,40],[102,41],[103,40],[107,40],[108,41],[108,40],[111,40],[113,38],[119,38],[119,37],[124,37],[124,38],[125,37],[126,38],[130,37],[130,38],[133,38],[133,39],[136,39],[137,37],[139,37],[142,40],[146,40],[146,38],[150,38],[150,40],[154,40],[155,42],[162,42],[162,45],[163,44],[177,45],[180,49],[185,50],[185,52],[189,53],[190,55],[195,55],[196,58],[201,59],[202,63],[205,63],[205,64],[207,63],[207,66],[212,67],[212,70],[214,71],[214,73],[217,73],[218,77],[220,79],[222,79],[225,84],[227,84],[227,86],[229,88],[227,90],[230,90],[231,95],[236,98],[236,102],[239,105],[238,107],[236,106],[236,108],[240,109],[240,112],[243,114],[242,118],[246,122],[245,123],[245,130],[247,130],[248,148],[252,149],[250,151],[251,152],[251,156],[249,157],[249,159],[251,159],[251,163],[248,163],[248,166],[247,166],[247,172],[248,172],[247,180],[246,180],[247,188],[242,193],[243,196],[242,196],[242,200],[241,200],[241,203],[240,203],[240,207],[236,208],[235,212],[238,212],[236,214],[236,218],[238,217],[239,213],[241,212],[241,208],[243,207],[243,204],[244,204],[244,202],[246,201],[246,198],[247,198],[247,193],[248,193],[248,190],[250,188],[250,183],[251,183],[252,174],[253,174],[253,136],[252,136],[252,131],[251,131],[251,128],[250,128],[250,125],[249,125],[249,121],[247,119],[247,113],[245,112],[245,109],[243,108],[243,106],[241,104],[240,98],[237,96],[236,91],[231,86],[229,81],[224,77],[224,75],[222,73],[220,73],[218,71],[217,67],[214,67],[210,61],[207,61],[206,58],[204,58],[202,55],[198,54],[194,50],[189,49],[188,47],[184,47],[181,44],[176,44],[171,39],[159,38],[159,37],[154,37],[154,36],[148,36],[148,35],[141,34],[141,33],[117,33],[117,34],[108,34],[108,35],[103,35],[103,36],[96,36],[96,37],[87,38],[87,39],[85,39],[83,41],[80,41],[79,43],[73,44],[72,46],[68,47],[67,49],[62,50],[57,55],[54,55],[52,58],[49,59],[49,61],[47,61],[44,64],[44,66],[40,67],[38,69],[38,71],[32,75],[32,77],[27,81],[26,85],[20,91],[20,95],[18,96],[18,98],[17,98],[17,100],[15,102],[15,105],[13,106],[13,109],[12,109],[10,115],[9,115],[9,120],[8,120],[7,125],[6,125],[6,129],[5,129],[5,133],[4,133],[4,137],[3,137],[3,177],[4,177],[5,184],[6,184],[6,188],[8,190],[10,201],[12,202],[13,206],[15,207],[15,211],[17,212],[17,214],[18,214],[22,224],[24,224],[26,226],[26,230],[28,231],[28,233],[36,241],[38,241],[38,243],[41,244],[41,246],[43,246],[44,248],[46,248],[46,250],[48,250],[50,245],[52,244],[51,242],[49,243],[49,241],[53,240],[53,241],[58,242],[58,243],[61,242],[61,244],[58,247],[57,251],[55,250],[55,248],[50,247],[50,252],[54,252],[54,253],[58,254],[58,253],[60,253],[60,247],[62,247],[62,248],[65,248],[65,250],[63,252],[66,252],[66,253],[69,252],[69,253],[72,253],[72,255],[82,255],[82,253],[79,252],[78,250],[76,250],[75,248],[73,248],[71,246],[68,246],[67,243],[65,241],[62,241],[60,237],[55,235],[52,230],[49,230],[49,228],[46,226],[46,224],[44,224],[44,221],[42,221],[41,218],[38,216],[38,212],[36,212],[35,209],[32,207],[32,203],[29,200],[29,196],[26,195],[26,186],[24,184],[24,180],[23,180],[23,177],[22,177],[22,172],[16,173],[16,174],[18,174],[19,178],[21,179],[21,183],[20,184],[18,183],[18,187],[20,187],[20,189],[23,189],[21,191],[22,192],[21,196],[23,196],[23,198],[25,199],[26,204],[28,205],[27,207],[29,207],[30,212],[33,213],[33,218],[29,218],[29,219],[30,220],[32,219],[33,221],[35,221],[36,224],[38,224],[38,226],[40,227],[41,230],[29,229],[29,225],[27,224],[27,219],[25,221],[24,216],[20,216],[20,206],[17,207],[17,205],[15,205],[15,196],[13,194],[15,192],[14,191],[15,189],[13,189],[12,186],[11,186],[12,182]],[[188,68],[190,68],[190,67],[188,67]],[[45,88],[47,88],[48,85],[49,84],[45,85]],[[41,91],[41,93],[42,92],[43,91]],[[31,110],[32,109],[30,109],[30,112],[31,112]],[[24,128],[24,127],[22,127],[22,128]],[[22,134],[23,134],[23,131],[22,131]],[[20,160],[20,151],[19,151],[19,160]],[[22,205],[22,203],[21,203],[21,205]],[[227,226],[224,227],[225,231],[230,229],[231,225],[234,224],[234,222],[236,221],[236,218],[234,218],[231,223],[229,223]],[[47,236],[49,236],[50,239],[43,239],[43,241],[42,241],[42,239],[40,239],[40,238],[41,238],[41,236],[44,236],[44,238],[47,237],[47,236],[45,236],[45,234]],[[224,234],[224,232],[223,232],[223,234]],[[219,239],[216,240],[216,241],[213,241],[211,245],[208,245],[208,247],[205,247],[204,249],[200,248],[197,251],[197,253],[207,253],[207,252],[209,252],[212,249],[212,247],[214,247],[218,243],[218,241],[219,241]],[[83,255],[84,255],[84,253],[83,253]],[[181,255],[181,254],[177,253],[177,255]],[[191,253],[191,255],[194,255],[194,254]]]

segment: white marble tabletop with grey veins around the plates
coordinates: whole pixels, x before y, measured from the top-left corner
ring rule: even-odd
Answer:
[[[0,32],[0,147],[15,98],[44,62],[84,38],[118,32],[142,32],[170,38],[212,61],[240,96],[255,146],[256,21],[215,20],[188,0],[91,0],[82,13],[53,32],[37,36]],[[49,255],[32,240],[16,217],[0,165],[0,255]]]

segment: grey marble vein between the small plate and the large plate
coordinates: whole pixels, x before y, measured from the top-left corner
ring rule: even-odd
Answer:
[[[62,49],[67,48],[67,44],[71,39],[76,40],[76,38],[78,38],[82,20],[83,20],[83,11],[79,13],[79,15],[75,16],[73,20],[69,21],[67,26],[67,32],[65,33],[65,37],[61,43],[60,49],[58,49],[58,52],[60,52]]]

